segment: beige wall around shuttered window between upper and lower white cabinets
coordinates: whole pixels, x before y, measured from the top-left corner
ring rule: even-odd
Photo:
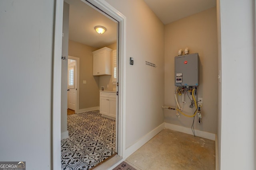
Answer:
[[[116,49],[116,43],[106,46],[112,50]],[[112,57],[111,57],[111,63],[112,63]],[[112,75],[105,75],[105,76],[99,76],[99,87],[104,86],[105,90],[115,90],[116,85],[112,83]]]

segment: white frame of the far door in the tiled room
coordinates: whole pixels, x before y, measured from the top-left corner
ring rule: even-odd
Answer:
[[[75,113],[79,113],[79,72],[80,72],[80,58],[68,56],[68,59],[76,60],[75,66],[75,88],[76,88],[76,105],[75,105]]]

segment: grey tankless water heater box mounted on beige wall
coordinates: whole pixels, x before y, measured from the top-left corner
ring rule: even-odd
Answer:
[[[199,86],[198,53],[175,57],[175,86]]]

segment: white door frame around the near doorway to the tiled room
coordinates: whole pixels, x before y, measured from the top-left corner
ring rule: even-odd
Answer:
[[[125,98],[126,90],[126,17],[105,0],[82,0],[106,16],[118,21],[118,155],[125,158]],[[60,106],[61,106],[61,54],[64,0],[55,0],[54,44],[52,66],[52,169],[61,169]]]

